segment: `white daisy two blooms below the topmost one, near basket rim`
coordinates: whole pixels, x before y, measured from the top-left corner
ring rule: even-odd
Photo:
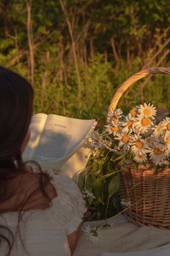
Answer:
[[[148,143],[146,140],[143,140],[140,135],[133,135],[133,138],[130,142],[130,150],[134,155],[143,155],[148,153]]]

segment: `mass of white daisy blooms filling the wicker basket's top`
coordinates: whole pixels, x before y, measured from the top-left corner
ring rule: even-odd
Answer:
[[[127,115],[120,108],[109,111],[102,138],[107,149],[126,163],[152,163],[156,170],[169,166],[170,118],[156,124],[156,108],[144,103]]]

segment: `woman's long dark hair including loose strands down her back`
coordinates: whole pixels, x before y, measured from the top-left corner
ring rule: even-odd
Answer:
[[[12,196],[9,181],[27,171],[22,162],[21,148],[30,126],[33,97],[34,91],[27,80],[12,70],[0,67],[0,204]],[[48,197],[44,189],[49,182],[48,176],[42,174],[41,170],[40,174],[39,187]],[[22,218],[26,202],[22,202],[20,208],[12,209],[19,210],[19,218]],[[0,209],[0,213],[4,213],[4,210]],[[4,235],[4,230],[8,231],[9,236]],[[7,255],[10,255],[14,235],[7,226],[0,225],[0,239],[8,244]]]

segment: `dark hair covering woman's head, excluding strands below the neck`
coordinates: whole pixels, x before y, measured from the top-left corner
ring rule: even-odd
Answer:
[[[0,161],[20,155],[32,117],[33,95],[27,80],[0,67]]]

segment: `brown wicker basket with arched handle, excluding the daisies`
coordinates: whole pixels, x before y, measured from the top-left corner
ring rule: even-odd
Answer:
[[[130,85],[150,74],[170,74],[169,68],[153,67],[134,74],[124,82],[112,98],[109,111],[115,110],[122,94]],[[170,168],[153,172],[153,166],[126,166],[121,171],[120,197],[128,198],[132,205],[126,213],[137,225],[170,229]]]

